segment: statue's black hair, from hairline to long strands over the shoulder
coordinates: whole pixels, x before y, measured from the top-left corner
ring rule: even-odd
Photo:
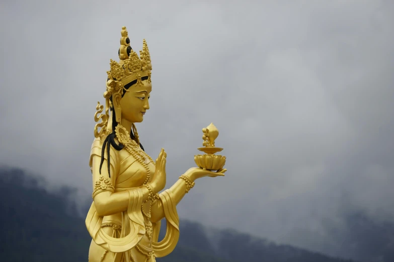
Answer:
[[[146,79],[148,79],[148,76],[142,77],[141,81],[146,80]],[[109,79],[107,79],[107,81],[108,80]],[[130,86],[132,86],[132,85],[134,85],[136,83],[137,83],[137,79],[135,79],[135,80],[131,81],[130,83],[124,85],[124,88],[125,89],[129,89]],[[125,93],[126,93],[126,90],[123,89],[122,97],[124,96]],[[112,96],[110,97],[110,101],[112,102]],[[103,166],[103,163],[104,163],[105,148],[107,147],[107,168],[108,168],[108,176],[109,177],[111,177],[111,174],[110,174],[110,161],[111,161],[110,160],[110,147],[112,146],[117,151],[121,151],[123,149],[123,147],[124,147],[121,143],[119,143],[119,145],[117,145],[115,143],[115,136],[116,136],[115,135],[115,127],[118,125],[118,122],[116,121],[115,110],[113,110],[112,107],[110,109],[112,111],[112,133],[109,134],[107,136],[107,138],[104,140],[103,147],[101,149],[101,162],[100,162],[100,169],[99,169],[99,172],[101,174],[101,167]],[[130,130],[130,138],[132,140],[134,140],[135,142],[137,142],[132,129]],[[139,147],[143,151],[145,151],[144,148],[142,147],[141,143],[139,143]]]

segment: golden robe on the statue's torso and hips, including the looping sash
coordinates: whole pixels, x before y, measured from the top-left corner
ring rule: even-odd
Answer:
[[[93,157],[101,158],[104,140],[105,136],[102,136],[93,142],[89,161],[92,174],[94,174]],[[104,159],[107,160],[107,150]],[[155,166],[149,158],[146,158],[145,163],[150,174],[154,174]],[[129,204],[127,210],[123,212],[99,216],[95,203],[92,203],[86,218],[86,226],[92,237],[89,262],[152,262],[155,261],[155,257],[171,253],[179,238],[179,218],[172,192],[169,189],[165,190],[157,200],[162,202],[161,206],[167,220],[166,236],[161,242],[157,242],[160,221],[150,223],[151,221],[143,216],[141,211],[142,207],[147,213],[151,204],[150,201],[142,203],[140,186],[146,180],[146,169],[126,150],[117,151],[112,147],[110,147],[110,166],[111,176],[106,178],[111,181],[114,192],[129,192]],[[103,169],[107,169],[107,165],[103,165]],[[93,177],[93,183],[98,180],[99,177]],[[145,228],[147,224],[151,224],[152,228]],[[153,231],[151,239],[149,239],[149,230]]]

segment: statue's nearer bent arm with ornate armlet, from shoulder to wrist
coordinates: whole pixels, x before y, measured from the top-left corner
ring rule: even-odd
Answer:
[[[130,199],[129,191],[137,190],[137,189],[129,189],[128,191],[114,192],[114,190],[104,190],[99,188],[98,190],[96,189],[95,191],[95,183],[97,181],[99,181],[99,183],[101,182],[100,177],[103,177],[104,179],[109,179],[111,181],[111,178],[108,175],[108,170],[106,168],[107,160],[106,159],[104,160],[101,169],[101,174],[99,172],[100,162],[101,162],[100,156],[97,155],[93,156],[93,163],[92,163],[93,164],[92,165],[93,190],[94,190],[93,200],[96,206],[97,214],[99,216],[108,216],[127,210],[129,206],[129,199]],[[111,168],[111,174],[112,176],[114,176],[116,173],[112,163],[110,168]],[[112,182],[110,183],[112,186]],[[142,190],[143,201],[145,201],[149,195],[148,189],[146,187],[142,187],[139,190]]]

